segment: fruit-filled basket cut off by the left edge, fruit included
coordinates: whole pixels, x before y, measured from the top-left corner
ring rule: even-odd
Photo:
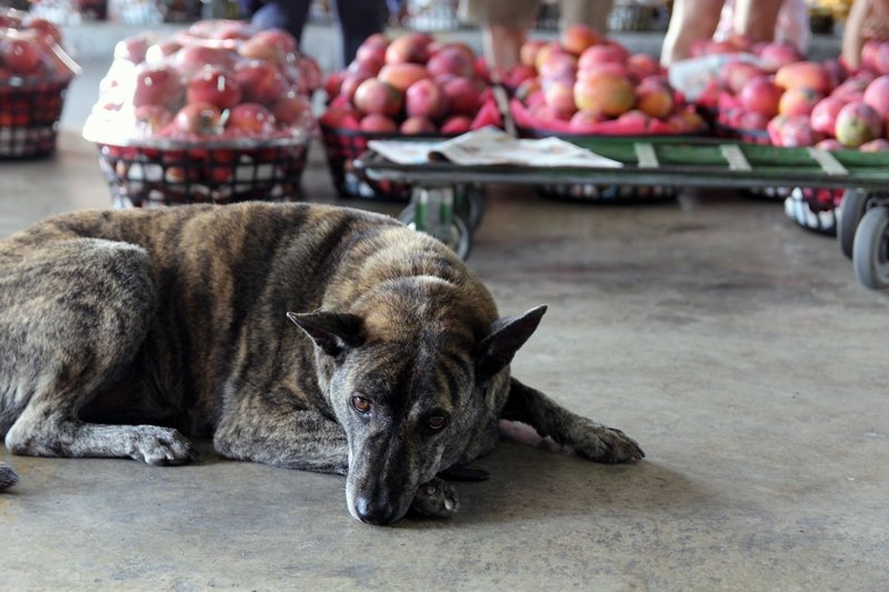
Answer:
[[[0,9],[0,159],[56,151],[64,93],[79,67],[50,22]]]

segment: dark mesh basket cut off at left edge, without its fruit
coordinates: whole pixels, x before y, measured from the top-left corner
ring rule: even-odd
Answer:
[[[0,159],[39,158],[56,151],[69,82],[0,84]]]

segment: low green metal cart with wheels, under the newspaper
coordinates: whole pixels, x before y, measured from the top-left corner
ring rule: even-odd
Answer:
[[[846,190],[838,238],[861,283],[889,288],[889,152],[828,152],[719,139],[571,139],[619,160],[622,168],[466,167],[449,162],[398,164],[371,151],[354,162],[373,180],[412,185],[400,219],[466,258],[481,221],[488,183],[616,184],[636,187],[829,188]]]

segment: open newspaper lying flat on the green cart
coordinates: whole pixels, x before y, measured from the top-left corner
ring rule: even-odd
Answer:
[[[622,164],[559,138],[519,140],[497,128],[482,128],[439,142],[371,140],[368,148],[397,164],[618,168]]]

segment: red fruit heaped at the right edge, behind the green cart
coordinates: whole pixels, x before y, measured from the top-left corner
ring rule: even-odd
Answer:
[[[698,99],[718,111],[722,124],[741,134],[758,132],[775,146],[889,149],[889,42],[869,41],[857,71],[840,60],[802,61],[777,43],[759,57],[759,63],[727,63]]]

